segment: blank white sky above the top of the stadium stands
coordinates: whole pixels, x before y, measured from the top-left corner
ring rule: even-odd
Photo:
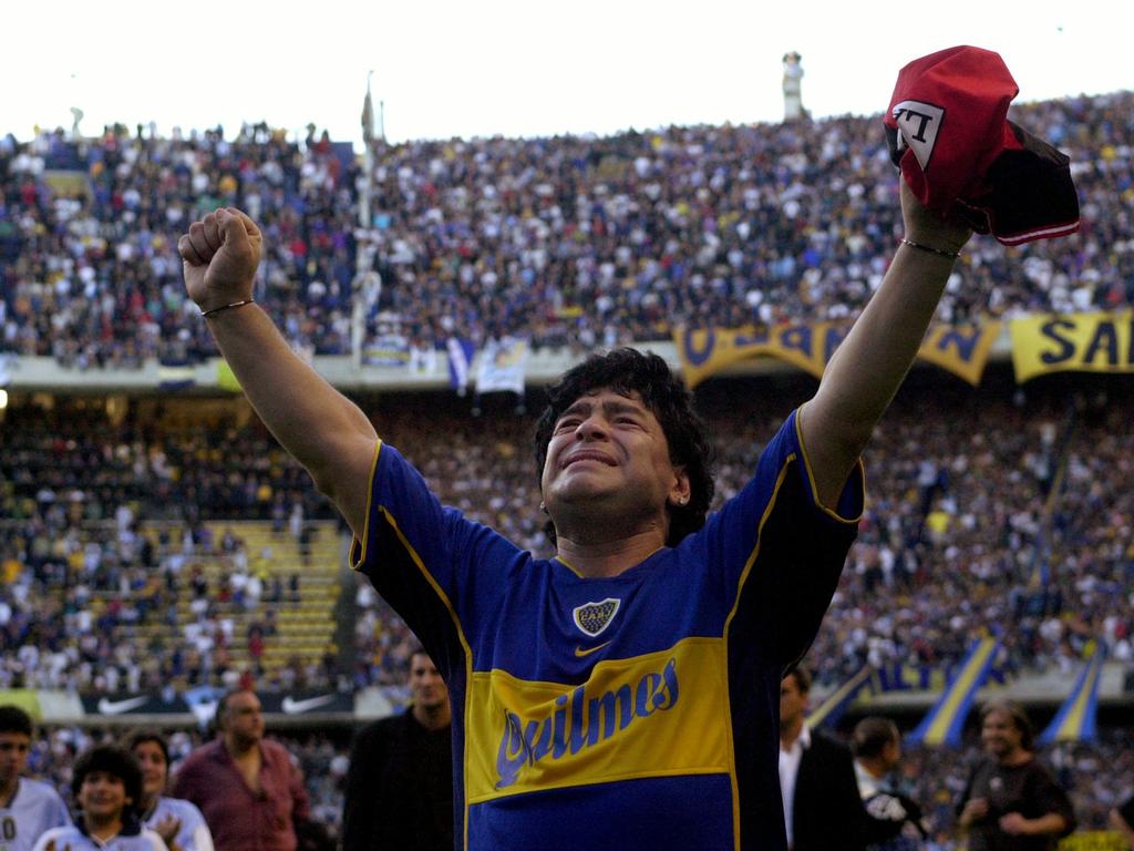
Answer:
[[[955,44],[998,51],[1017,102],[1134,89],[1128,0],[10,6],[0,133],[22,140],[79,106],[88,135],[313,121],[358,143],[370,70],[392,141],[775,121],[792,50],[815,117],[880,112],[905,62]]]

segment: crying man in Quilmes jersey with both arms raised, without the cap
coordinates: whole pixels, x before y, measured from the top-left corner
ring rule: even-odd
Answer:
[[[460,848],[785,846],[780,680],[854,539],[860,453],[970,236],[905,184],[902,203],[908,242],[878,293],[713,515],[709,441],[661,359],[592,356],[551,388],[535,438],[549,561],[441,506],[293,354],[252,302],[247,216],[220,210],[181,237],[188,293],[249,401],[445,677]]]

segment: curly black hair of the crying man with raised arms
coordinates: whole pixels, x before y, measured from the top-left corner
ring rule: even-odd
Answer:
[[[669,364],[655,354],[634,348],[592,354],[548,388],[548,406],[535,426],[536,475],[542,480],[548,445],[562,412],[579,396],[595,390],[637,393],[643,404],[658,418],[669,444],[670,461],[675,466],[683,467],[689,478],[689,502],[683,506],[668,506],[669,536],[666,545],[677,545],[705,524],[716,490],[714,453],[704,423],[693,410],[693,395],[672,373]],[[550,522],[547,533],[555,542],[555,525]]]

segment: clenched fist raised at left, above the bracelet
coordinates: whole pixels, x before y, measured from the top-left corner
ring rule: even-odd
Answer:
[[[194,221],[177,241],[189,298],[202,311],[251,300],[262,242],[256,224],[235,207]]]

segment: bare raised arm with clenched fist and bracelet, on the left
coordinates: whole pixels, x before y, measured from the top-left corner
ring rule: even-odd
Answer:
[[[260,419],[361,537],[373,424],[291,351],[259,305],[226,306],[251,302],[261,242],[256,225],[234,208],[194,222],[177,244],[186,289],[202,311],[215,311],[202,321]]]

